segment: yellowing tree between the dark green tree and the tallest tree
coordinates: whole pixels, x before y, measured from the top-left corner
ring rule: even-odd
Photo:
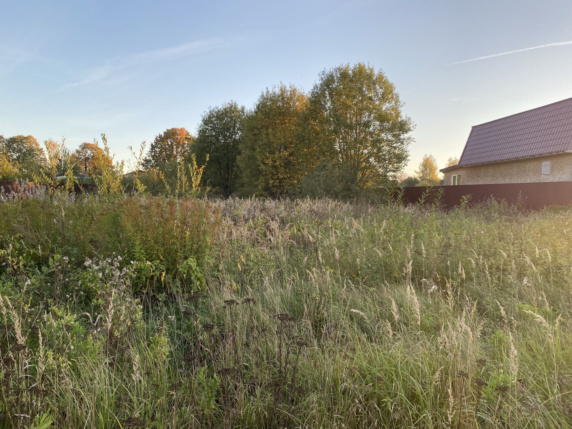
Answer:
[[[245,193],[287,194],[315,166],[302,132],[307,106],[306,94],[293,85],[273,86],[260,95],[245,120],[239,157]]]

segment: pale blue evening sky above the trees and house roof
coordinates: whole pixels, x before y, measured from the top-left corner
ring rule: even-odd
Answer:
[[[0,134],[73,149],[105,132],[117,158],[346,62],[395,83],[416,123],[408,172],[459,156],[471,125],[572,97],[569,0],[0,0],[0,16]]]

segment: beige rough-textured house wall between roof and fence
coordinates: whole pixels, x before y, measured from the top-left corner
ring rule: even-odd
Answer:
[[[542,174],[542,161],[551,161],[550,174]],[[572,153],[459,167],[444,173],[445,185],[453,174],[462,174],[463,185],[572,181]]]

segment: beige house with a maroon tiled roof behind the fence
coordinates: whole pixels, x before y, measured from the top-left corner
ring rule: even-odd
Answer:
[[[572,98],[471,129],[445,185],[572,181]]]

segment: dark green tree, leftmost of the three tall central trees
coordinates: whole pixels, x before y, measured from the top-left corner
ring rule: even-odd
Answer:
[[[221,107],[210,108],[202,115],[197,138],[192,145],[197,162],[205,164],[203,180],[228,197],[236,190],[239,179],[237,157],[243,137],[244,106],[231,101]]]

